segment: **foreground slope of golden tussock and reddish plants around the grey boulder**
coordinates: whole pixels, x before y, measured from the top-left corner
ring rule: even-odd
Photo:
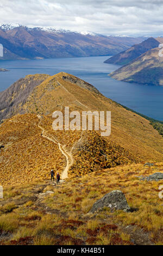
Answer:
[[[0,199],[2,245],[162,245],[162,182],[142,181],[139,175],[163,172],[130,164],[68,179],[54,186],[49,181],[4,187]],[[93,203],[112,190],[121,190],[138,211],[89,214]],[[42,192],[53,191],[54,193]]]

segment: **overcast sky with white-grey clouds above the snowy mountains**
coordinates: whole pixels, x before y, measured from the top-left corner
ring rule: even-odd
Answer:
[[[162,14],[163,0],[0,1],[0,23],[106,35],[163,35]]]

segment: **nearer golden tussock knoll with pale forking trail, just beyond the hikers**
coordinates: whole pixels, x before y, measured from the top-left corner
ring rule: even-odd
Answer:
[[[46,179],[52,168],[61,173],[61,178],[67,178],[67,171],[69,176],[76,176],[139,161],[95,131],[54,131],[49,118],[34,114],[5,121],[0,141],[4,145],[0,157],[2,185]]]

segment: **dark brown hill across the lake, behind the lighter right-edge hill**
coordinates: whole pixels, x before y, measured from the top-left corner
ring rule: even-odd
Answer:
[[[109,64],[117,64],[117,65],[126,65],[131,60],[136,59],[141,54],[151,50],[152,48],[156,48],[159,46],[159,41],[154,38],[148,38],[147,40],[141,42],[140,44],[133,45],[126,51],[120,52],[115,56],[106,59],[104,63]]]

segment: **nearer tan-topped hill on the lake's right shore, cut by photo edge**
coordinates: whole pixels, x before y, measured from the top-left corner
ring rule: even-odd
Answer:
[[[134,59],[128,65],[109,74],[117,80],[163,86],[163,58],[159,48],[154,48]]]

